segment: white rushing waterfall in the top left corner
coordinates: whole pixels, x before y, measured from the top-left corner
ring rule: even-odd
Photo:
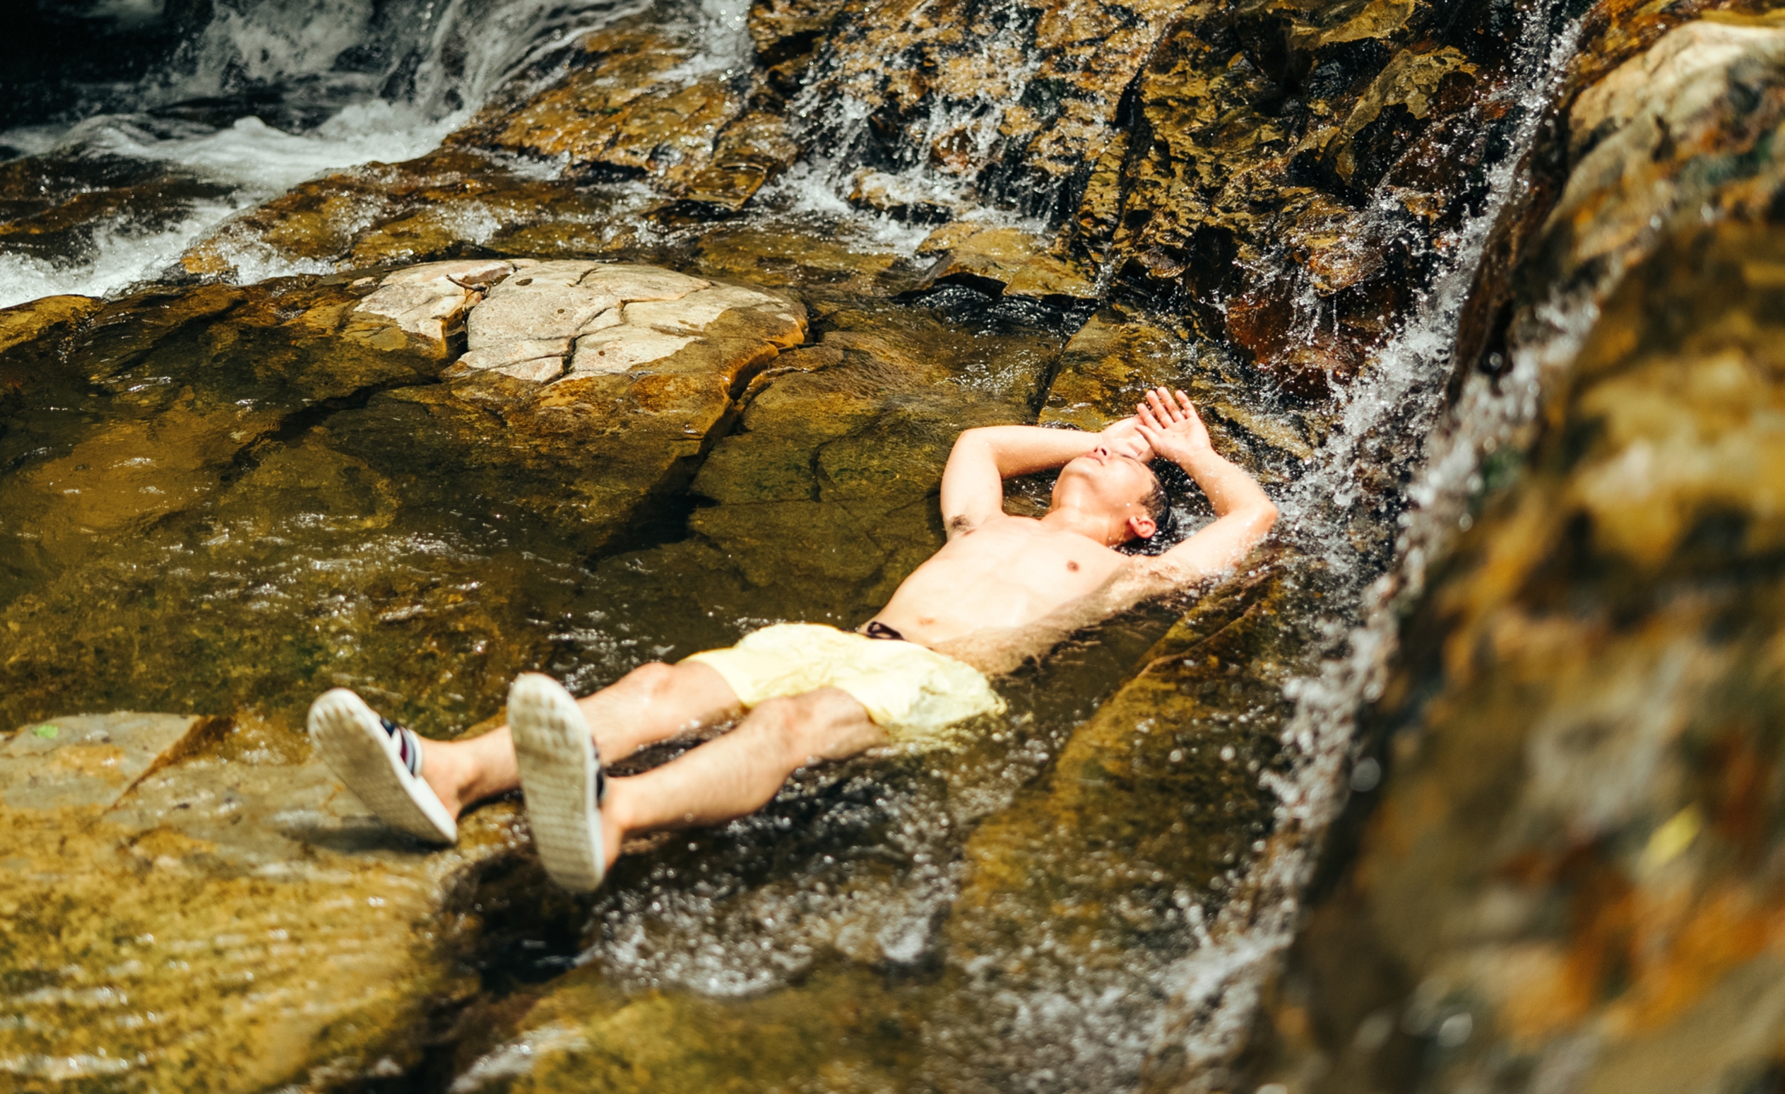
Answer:
[[[173,209],[107,218],[82,255],[0,252],[0,307],[55,293],[114,293],[157,277],[223,218],[303,178],[421,155],[514,73],[643,7],[641,0],[223,0],[162,68],[130,84],[80,84],[55,111],[0,132],[0,148],[57,161],[75,178],[127,162],[203,187],[203,196]],[[118,23],[143,18],[132,5],[104,11]],[[723,12],[709,20],[718,29]],[[734,12],[732,54],[737,21]]]

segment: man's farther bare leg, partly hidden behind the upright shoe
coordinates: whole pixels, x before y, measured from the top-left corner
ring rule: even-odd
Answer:
[[[698,660],[639,666],[609,687],[577,700],[577,707],[589,721],[589,733],[603,762],[743,712],[725,676]],[[514,766],[509,726],[469,741],[423,741],[421,778],[453,817],[486,798],[516,789],[521,775]]]

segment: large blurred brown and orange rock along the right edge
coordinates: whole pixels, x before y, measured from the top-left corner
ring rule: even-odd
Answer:
[[[1353,775],[1380,801],[1280,985],[1266,1080],[1778,1073],[1785,180],[1756,150],[1785,68],[1767,21],[1664,30],[1614,34],[1637,55],[1587,66],[1558,134],[1507,346],[1553,403],[1407,626]]]

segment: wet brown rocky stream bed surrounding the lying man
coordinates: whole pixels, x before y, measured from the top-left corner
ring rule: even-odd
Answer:
[[[337,125],[246,61],[145,77],[157,155],[0,134],[0,1089],[1785,1083],[1785,18],[571,9],[359,27],[412,159],[230,182],[232,111]],[[853,626],[959,430],[1153,384],[1278,532],[964,751],[587,898],[311,757],[327,687],[453,737]]]

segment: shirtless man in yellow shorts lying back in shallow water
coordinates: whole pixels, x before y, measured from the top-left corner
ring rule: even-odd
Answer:
[[[1166,493],[1148,466],[1183,468],[1217,519],[1160,555],[1148,539]],[[1041,519],[1003,512],[1003,480],[1060,468]],[[948,543],[860,630],[782,623],[730,650],[646,664],[573,700],[523,673],[509,725],[469,741],[423,741],[336,689],[309,726],[334,773],[387,825],[450,844],[468,807],[527,796],[534,844],[566,889],[589,891],[628,835],[719,825],[762,808],[796,769],[876,746],[928,748],[1003,710],[987,673],[1046,653],[1071,632],[1233,568],[1276,507],[1216,455],[1182,391],[1151,391],[1101,434],[998,425],[955,441],[942,471]],[[735,719],[675,760],[605,778],[600,757]],[[959,730],[957,730],[959,732]]]

